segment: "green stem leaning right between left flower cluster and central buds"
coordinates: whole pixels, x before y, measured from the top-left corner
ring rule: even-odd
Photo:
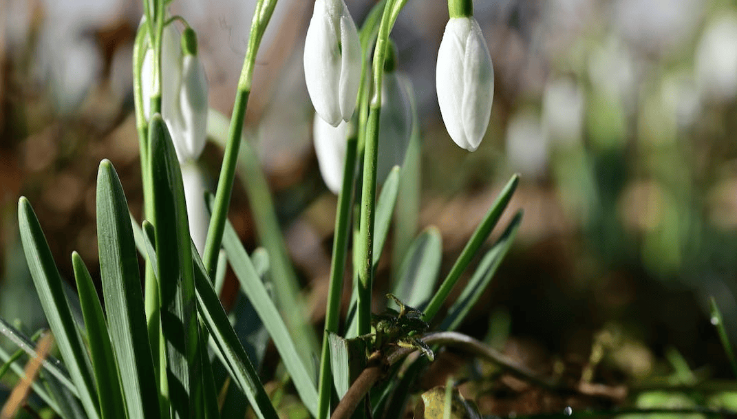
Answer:
[[[226,144],[226,152],[223,156],[223,166],[220,169],[220,178],[217,182],[217,193],[215,194],[215,203],[212,208],[212,219],[210,220],[207,241],[205,243],[203,263],[210,278],[214,278],[215,269],[217,268],[217,253],[220,251],[220,244],[223,241],[223,229],[226,225],[228,206],[230,205],[231,191],[233,190],[235,169],[238,162],[238,149],[243,131],[243,119],[245,118],[245,108],[248,104],[248,95],[251,94],[251,80],[254,76],[256,53],[259,50],[266,25],[273,14],[275,6],[276,0],[259,0],[254,11],[254,20],[251,23],[248,49],[245,52],[243,68],[240,74],[240,80],[238,81],[238,90],[233,105],[233,116],[231,117],[231,124],[228,130],[228,143]]]

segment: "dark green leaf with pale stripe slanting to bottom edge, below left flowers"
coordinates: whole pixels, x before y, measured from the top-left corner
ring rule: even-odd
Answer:
[[[190,242],[191,243],[191,242]],[[191,243],[192,244],[192,243]],[[258,373],[248,359],[245,350],[238,340],[233,327],[228,321],[223,305],[215,294],[212,282],[208,278],[204,265],[197,253],[195,244],[192,244],[192,258],[195,261],[195,291],[197,294],[197,309],[207,326],[220,356],[231,372],[234,381],[245,392],[251,407],[256,415],[262,419],[278,419],[271,401],[269,400]]]

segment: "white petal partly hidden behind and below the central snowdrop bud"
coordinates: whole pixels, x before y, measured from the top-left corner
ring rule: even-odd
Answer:
[[[340,192],[343,184],[343,166],[346,162],[346,138],[348,123],[340,122],[333,127],[320,116],[315,115],[312,124],[312,134],[315,141],[315,155],[318,158],[320,174],[325,185],[333,194]]]

